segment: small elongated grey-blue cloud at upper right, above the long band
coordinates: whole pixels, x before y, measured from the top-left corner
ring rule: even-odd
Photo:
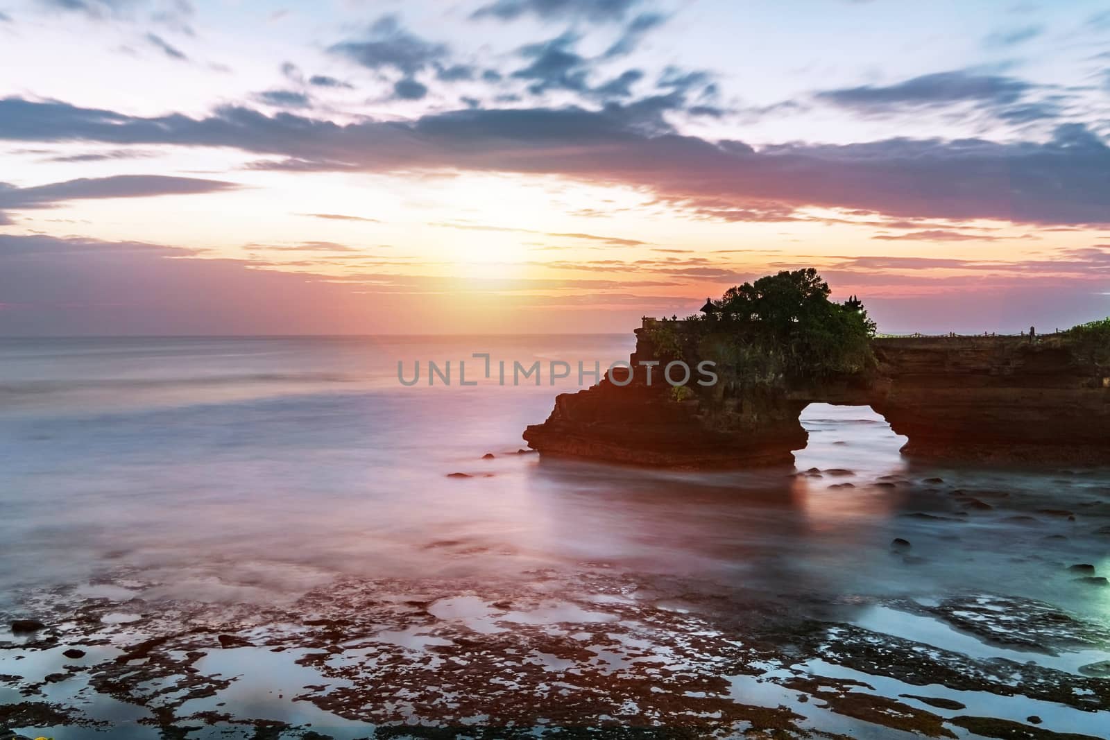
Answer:
[[[1018,102],[1033,89],[1029,82],[997,74],[967,71],[922,74],[885,87],[862,85],[818,92],[818,100],[857,111],[889,111],[971,102],[1003,105]]]

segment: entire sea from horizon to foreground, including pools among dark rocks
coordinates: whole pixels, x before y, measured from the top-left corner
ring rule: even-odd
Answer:
[[[430,359],[441,366],[450,359],[457,368],[465,358],[468,377],[475,377],[471,373],[482,361],[472,353],[490,353],[494,363],[584,359],[592,366],[597,359],[604,367],[627,359],[633,345],[630,334],[0,339],[0,612],[10,621],[47,610],[54,619],[43,619],[47,628],[38,637],[0,633],[0,675],[14,677],[0,688],[0,703],[84,712],[83,726],[59,721],[64,712],[49,720],[58,738],[103,737],[105,728],[118,733],[113,738],[160,737],[158,723],[170,720],[154,711],[158,707],[168,707],[176,719],[190,717],[185,723],[198,728],[191,738],[215,730],[228,737],[240,731],[236,722],[254,721],[301,728],[287,730],[287,737],[306,737],[294,732],[311,724],[352,738],[393,724],[554,726],[551,708],[537,710],[543,717],[524,707],[502,717],[502,699],[493,695],[476,702],[467,721],[436,709],[451,703],[443,696],[401,701],[397,696],[407,696],[402,688],[417,690],[394,673],[374,676],[375,690],[396,682],[389,700],[369,690],[343,693],[335,687],[361,686],[351,666],[365,653],[341,656],[353,661],[344,669],[351,670],[330,673],[306,657],[322,638],[295,642],[289,624],[310,611],[326,612],[337,624],[336,615],[350,610],[374,612],[381,622],[376,632],[367,626],[340,640],[355,652],[376,639],[397,650],[395,660],[426,666],[428,650],[451,659],[445,647],[465,646],[462,632],[500,639],[509,631],[526,639],[527,649],[486,646],[487,652],[535,650],[545,683],[573,682],[591,671],[608,677],[613,686],[602,693],[612,695],[612,706],[555,702],[572,707],[558,720],[564,724],[678,721],[666,713],[673,702],[647,711],[654,695],[666,693],[665,683],[656,687],[664,690],[629,689],[628,696],[614,688],[617,678],[639,676],[640,668],[654,665],[644,658],[650,646],[628,642],[653,642],[642,630],[614,642],[624,645],[619,656],[613,645],[574,655],[541,649],[545,640],[594,635],[603,622],[610,630],[606,635],[617,625],[635,630],[654,624],[655,642],[667,642],[679,627],[658,621],[658,615],[700,615],[731,642],[767,650],[759,660],[737,657],[728,667],[688,657],[687,672],[704,681],[679,697],[716,690],[737,704],[785,703],[803,717],[793,720],[800,730],[884,738],[909,731],[838,711],[835,702],[817,711],[799,701],[805,691],[799,677],[842,682],[868,671],[858,655],[837,662],[827,651],[818,655],[824,648],[816,642],[797,648],[791,662],[789,640],[775,642],[768,635],[798,625],[868,630],[973,665],[1033,661],[1059,672],[1056,679],[1066,686],[1079,681],[1076,687],[1089,690],[1082,681],[1091,680],[1093,669],[1080,667],[1110,659],[1102,638],[1093,637],[1110,629],[1110,589],[1077,580],[1087,570],[1069,568],[1090,565],[1090,575],[1110,572],[1110,469],[916,463],[899,455],[905,438],[869,408],[828,405],[805,410],[810,438],[794,467],[690,473],[541,459],[518,452],[521,433],[546,418],[557,393],[578,389],[573,373],[552,385],[545,372],[539,386],[500,385],[496,373],[475,386],[430,387],[422,378],[406,387],[397,379],[398,361],[411,376],[417,359],[425,367]],[[484,458],[487,454],[493,458]],[[457,473],[467,477],[451,476]],[[895,538],[909,545],[892,547]],[[363,589],[364,604],[353,596],[353,585]],[[720,599],[741,606],[720,608]],[[1011,606],[990,606],[990,599]],[[504,606],[507,601],[513,606]],[[386,604],[390,609],[410,604],[404,608],[413,614],[393,610],[386,618],[374,611]],[[747,615],[744,624],[728,621],[748,604],[759,605],[753,606],[758,615]],[[978,630],[960,617],[967,604],[989,606],[976,612],[987,621],[991,614],[1010,621]],[[1030,604],[1046,605],[1083,628],[1064,626],[1053,633],[1022,625],[1013,615],[1031,614],[1021,606]],[[647,611],[629,617],[629,605],[650,607],[658,624]],[[73,627],[74,615],[89,610],[98,615],[95,628]],[[171,611],[176,617],[169,617]],[[182,655],[195,647],[193,638],[212,642],[195,649],[206,656],[201,663],[188,665],[224,680],[234,675],[229,686],[214,680],[210,693],[178,701],[150,682],[180,683],[185,663],[173,663],[176,668],[162,676],[139,671],[128,683],[98,662],[118,670],[123,663],[117,658],[130,655],[129,646],[171,633],[167,625],[184,614],[213,635],[240,630],[235,633],[253,646],[228,649],[206,632],[181,638]],[[756,617],[777,627],[765,630]],[[350,614],[345,619],[351,621]],[[1007,629],[1017,637],[1008,639]],[[756,632],[759,640],[749,639]],[[279,646],[281,640],[295,643]],[[109,652],[70,670],[60,655],[70,642]],[[250,653],[261,645],[281,650]],[[638,652],[628,652],[629,645]],[[683,662],[668,645],[666,660]],[[690,648],[690,655],[725,655],[706,650]],[[226,656],[239,653],[252,657],[229,666]],[[299,660],[274,665],[294,653]],[[203,661],[220,656],[222,663],[205,668]],[[20,663],[34,663],[41,676],[30,676]],[[738,672],[739,663],[758,663],[765,675]],[[498,665],[482,680],[509,676],[512,668]],[[533,663],[518,668],[513,681],[538,691]],[[58,671],[64,680],[43,683]],[[104,671],[114,683],[98,678]],[[915,680],[905,671],[870,675],[897,686],[875,679],[869,696],[896,697],[909,689],[919,695],[927,683],[945,683]],[[275,676],[287,676],[289,686],[272,686]],[[1038,714],[1043,727],[1057,731],[1098,737],[1104,727],[1099,707],[1031,693],[1005,697],[982,681],[973,690],[959,689],[966,695],[959,703],[975,708],[979,701],[983,708],[977,711],[1007,721]],[[252,686],[258,690],[242,693]],[[312,686],[330,688],[305,693]],[[296,692],[299,700],[291,702],[289,695]],[[551,687],[541,693],[548,697]],[[202,706],[206,700],[212,703]],[[529,706],[545,701],[534,697]],[[918,709],[942,720],[961,714],[931,704]],[[703,713],[727,719],[729,711],[713,704]],[[737,720],[738,726],[751,721]],[[12,727],[42,734],[41,724]]]

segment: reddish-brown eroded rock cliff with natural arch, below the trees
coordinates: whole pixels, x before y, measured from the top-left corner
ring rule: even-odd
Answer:
[[[789,464],[805,447],[798,422],[810,403],[866,405],[909,442],[908,455],[939,459],[1104,463],[1110,388],[1066,338],[877,338],[876,372],[815,385],[726,387],[678,399],[658,375],[618,386],[606,377],[562,394],[548,419],[527,427],[548,455],[668,467]],[[637,331],[638,359],[655,353]],[[620,369],[616,372],[623,372]],[[625,377],[617,377],[617,382]]]

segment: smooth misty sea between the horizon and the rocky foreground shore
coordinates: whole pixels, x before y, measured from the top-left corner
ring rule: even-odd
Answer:
[[[134,566],[165,584],[147,598],[268,602],[340,574],[507,578],[603,561],[706,588],[988,589],[1106,616],[1107,589],[1061,574],[1072,562],[1110,568],[1110,537],[1094,534],[1110,521],[1107,470],[915,466],[870,409],[825,405],[805,412],[797,469],[849,473],[541,460],[515,454],[521,433],[575,378],[554,388],[546,375],[539,387],[396,379],[398,359],[457,368],[490,352],[607,365],[632,345],[630,335],[0,341],[0,594]],[[474,477],[447,477],[456,472]],[[884,476],[907,483],[875,487]],[[944,485],[924,483],[935,476]],[[844,483],[855,487],[831,487]],[[953,486],[1006,495],[961,513]],[[892,537],[912,541],[912,565],[892,556]]]

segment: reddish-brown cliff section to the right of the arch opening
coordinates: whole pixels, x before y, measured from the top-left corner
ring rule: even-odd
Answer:
[[[870,406],[906,454],[938,458],[1103,463],[1110,389],[1066,339],[875,339],[881,384]]]

